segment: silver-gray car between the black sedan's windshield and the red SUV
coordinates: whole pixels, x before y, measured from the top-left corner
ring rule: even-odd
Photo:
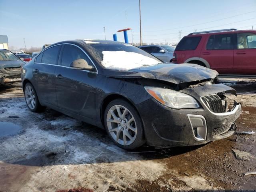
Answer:
[[[169,45],[142,45],[138,47],[154,55],[163,62],[172,62],[174,48]]]

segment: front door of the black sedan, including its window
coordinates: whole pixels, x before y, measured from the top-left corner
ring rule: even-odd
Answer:
[[[77,59],[84,59],[89,65],[94,66],[92,60],[80,47],[73,44],[65,44],[61,51],[60,65],[56,67],[56,96],[58,107],[95,119],[95,82],[97,70],[85,71],[70,67]]]

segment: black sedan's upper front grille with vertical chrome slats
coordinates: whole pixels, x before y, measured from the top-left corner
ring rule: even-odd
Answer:
[[[214,113],[224,113],[227,109],[226,97],[222,93],[202,97],[204,104]]]

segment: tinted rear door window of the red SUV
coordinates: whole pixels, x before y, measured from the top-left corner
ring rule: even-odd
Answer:
[[[206,50],[234,49],[233,34],[211,35],[206,44]]]

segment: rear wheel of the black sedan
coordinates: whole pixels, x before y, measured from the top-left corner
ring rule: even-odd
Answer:
[[[24,95],[26,104],[32,112],[42,112],[45,110],[45,106],[42,106],[38,100],[36,90],[31,83],[27,83],[24,88]]]

